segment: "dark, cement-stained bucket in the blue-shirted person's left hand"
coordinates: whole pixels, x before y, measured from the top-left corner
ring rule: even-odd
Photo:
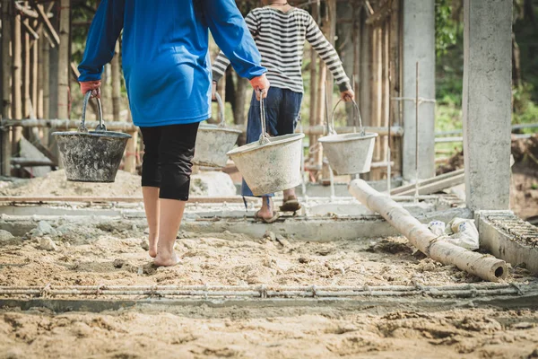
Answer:
[[[86,106],[91,92],[82,104],[82,123],[76,132],[55,132],[67,180],[75,182],[114,182],[117,168],[131,136],[107,131],[103,123],[100,100],[97,99],[100,124],[95,131],[85,127]]]

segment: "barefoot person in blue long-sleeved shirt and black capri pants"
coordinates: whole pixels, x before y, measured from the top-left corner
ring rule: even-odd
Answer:
[[[123,30],[122,66],[134,125],[142,130],[142,186],[157,266],[178,263],[198,124],[211,118],[209,30],[238,74],[263,96],[265,67],[233,0],[103,0],[91,22],[81,90],[100,96],[103,66]]]

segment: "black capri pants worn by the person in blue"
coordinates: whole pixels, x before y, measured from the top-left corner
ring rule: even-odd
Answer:
[[[198,125],[140,127],[143,187],[160,188],[160,198],[188,200]]]

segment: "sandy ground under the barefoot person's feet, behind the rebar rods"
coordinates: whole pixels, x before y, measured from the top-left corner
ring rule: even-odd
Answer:
[[[51,236],[15,238],[0,247],[0,285],[444,285],[473,282],[456,267],[413,255],[404,238],[275,241],[223,232],[183,233],[176,248],[182,263],[155,268],[141,247],[142,228],[129,222],[74,225],[65,220]],[[516,269],[511,280],[525,278]]]

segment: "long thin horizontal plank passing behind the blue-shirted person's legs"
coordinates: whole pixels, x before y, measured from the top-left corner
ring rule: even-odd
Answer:
[[[259,198],[246,197],[247,202],[257,202]],[[23,197],[23,196],[1,196],[0,202],[8,203],[49,203],[49,202],[81,202],[81,203],[142,203],[143,197],[86,197],[86,196],[72,196],[72,197],[55,197],[55,196],[43,196],[43,197]],[[231,197],[203,197],[203,196],[191,196],[188,200],[189,203],[243,203],[243,197],[231,196]]]

